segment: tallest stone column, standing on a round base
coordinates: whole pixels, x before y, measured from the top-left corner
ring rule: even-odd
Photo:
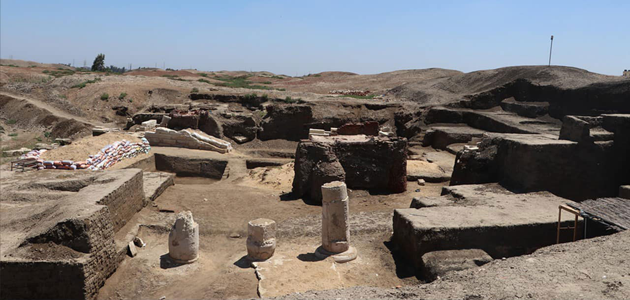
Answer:
[[[336,262],[348,262],[357,258],[357,250],[350,246],[348,226],[348,191],[341,181],[321,186],[321,247],[318,256],[331,256]]]

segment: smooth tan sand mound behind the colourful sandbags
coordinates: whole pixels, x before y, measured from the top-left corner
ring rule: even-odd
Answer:
[[[72,142],[70,145],[49,150],[42,154],[43,160],[74,160],[81,161],[89,155],[98,153],[106,145],[113,142],[127,140],[129,142],[142,142],[139,138],[120,132],[108,132],[99,136],[86,136]]]

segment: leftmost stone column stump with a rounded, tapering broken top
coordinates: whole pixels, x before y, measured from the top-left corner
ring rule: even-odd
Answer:
[[[190,211],[177,214],[168,235],[168,255],[180,264],[190,264],[199,258],[199,225]]]

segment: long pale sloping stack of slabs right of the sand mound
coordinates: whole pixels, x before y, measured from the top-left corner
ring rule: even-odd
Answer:
[[[195,130],[177,131],[168,128],[156,128],[155,131],[144,133],[144,137],[149,140],[152,146],[210,150],[219,153],[227,153],[232,150],[231,143]]]

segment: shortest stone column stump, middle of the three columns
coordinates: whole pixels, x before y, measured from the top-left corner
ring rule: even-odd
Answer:
[[[266,260],[275,251],[275,221],[255,219],[247,224],[247,256],[251,260]]]

